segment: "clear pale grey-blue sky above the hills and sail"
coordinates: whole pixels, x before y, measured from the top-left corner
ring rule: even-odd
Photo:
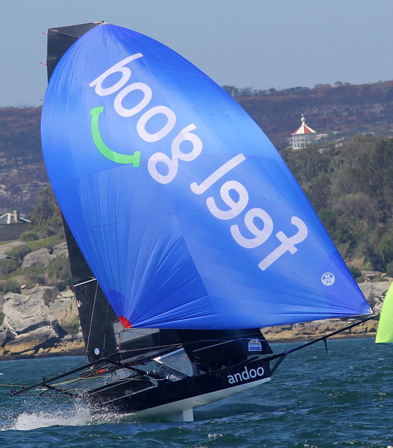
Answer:
[[[392,0],[0,0],[1,105],[39,105],[49,27],[105,20],[219,84],[285,88],[393,78]]]

